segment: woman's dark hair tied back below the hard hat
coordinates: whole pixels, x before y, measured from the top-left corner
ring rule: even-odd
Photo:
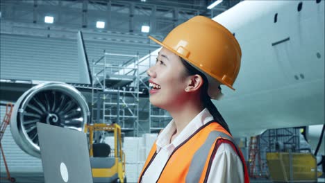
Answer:
[[[192,67],[192,65],[189,64],[188,61],[186,61],[185,59],[181,58],[181,62],[183,63],[183,65],[185,67],[185,70],[188,73],[188,75],[199,74],[203,78],[201,100],[203,101],[204,106],[206,108],[208,108],[209,112],[213,115],[213,119],[215,119],[215,121],[217,123],[219,123],[219,125],[222,125],[222,127],[225,130],[227,130],[227,132],[231,133],[229,128],[228,128],[228,125],[227,125],[226,121],[224,121],[224,118],[219,113],[219,111],[217,110],[217,107],[215,107],[215,105],[211,101],[210,96],[208,95],[208,79],[206,78],[206,76],[203,73],[201,73],[201,71],[199,71],[199,70],[195,69],[194,67]]]

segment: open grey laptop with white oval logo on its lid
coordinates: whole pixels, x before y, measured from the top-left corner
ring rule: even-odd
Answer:
[[[84,132],[37,123],[46,183],[92,183]]]

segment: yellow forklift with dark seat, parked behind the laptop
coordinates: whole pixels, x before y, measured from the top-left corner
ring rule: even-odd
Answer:
[[[114,155],[110,155],[111,148],[107,143],[93,143],[95,131],[114,133]],[[121,127],[116,123],[94,123],[86,125],[85,133],[87,132],[89,132],[89,155],[94,182],[126,182]]]

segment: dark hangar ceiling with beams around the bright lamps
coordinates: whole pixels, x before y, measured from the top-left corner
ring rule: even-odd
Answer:
[[[238,2],[223,1],[208,10],[213,0],[1,1],[1,33],[69,38],[76,30],[83,30],[93,34],[88,40],[149,44],[147,34],[163,39],[190,17],[215,17]],[[44,23],[45,16],[53,17],[53,24]],[[97,28],[97,21],[105,22],[105,28]],[[149,33],[142,33],[142,26],[150,26]]]

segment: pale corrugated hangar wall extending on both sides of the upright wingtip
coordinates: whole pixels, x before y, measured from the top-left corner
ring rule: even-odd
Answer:
[[[64,40],[51,37],[0,34],[0,39],[0,78],[78,83],[77,42],[74,37]],[[104,50],[107,53],[128,55],[139,53],[142,57],[149,53],[150,47],[152,46],[145,44],[139,46],[126,43],[95,42],[85,38],[85,49],[90,67],[92,67],[92,60],[98,60],[103,56]],[[123,63],[128,59],[117,58],[111,61]]]

